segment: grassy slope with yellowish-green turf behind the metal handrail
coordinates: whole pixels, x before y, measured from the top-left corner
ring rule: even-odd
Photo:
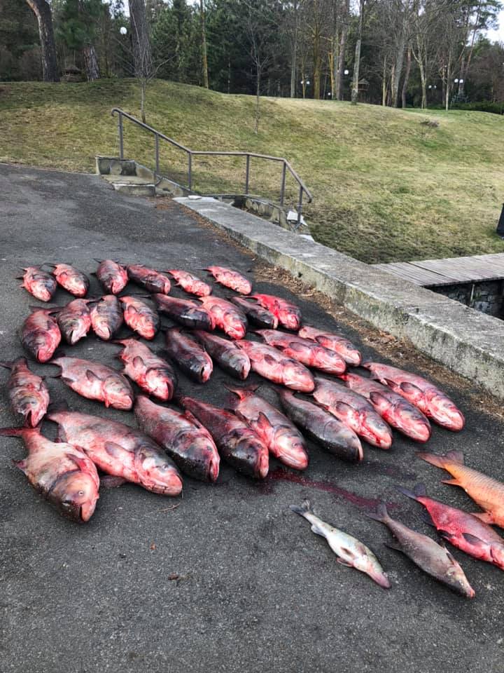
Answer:
[[[314,193],[305,216],[316,240],[363,261],[503,252],[504,117],[421,112],[330,101],[254,99],[156,81],[147,121],[192,149],[285,156]],[[139,115],[133,81],[0,85],[0,161],[94,170],[117,155],[112,107]],[[421,122],[439,122],[429,128]],[[153,166],[153,138],[125,128],[125,154]],[[162,169],[183,179],[186,157],[161,144]],[[242,192],[244,161],[195,158],[195,188]],[[280,168],[253,160],[253,193],[277,199]],[[297,189],[288,182],[295,203]]]

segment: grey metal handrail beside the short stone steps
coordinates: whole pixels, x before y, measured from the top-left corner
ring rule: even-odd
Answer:
[[[302,179],[300,178],[299,175],[297,175],[297,172],[293,169],[293,167],[290,165],[290,163],[287,161],[286,158],[283,158],[281,156],[269,156],[268,154],[256,154],[255,152],[225,152],[225,151],[202,151],[202,150],[194,150],[194,149],[189,149],[185,145],[181,144],[180,142],[176,142],[172,138],[169,138],[167,135],[164,133],[161,133],[157,129],[153,128],[152,126],[149,126],[148,124],[145,124],[143,121],[140,121],[137,119],[137,117],[134,117],[132,114],[128,114],[124,110],[121,110],[118,107],[114,107],[111,112],[112,116],[115,114],[118,114],[118,133],[119,133],[119,158],[124,159],[124,128],[123,128],[123,117],[126,117],[130,121],[132,121],[134,124],[137,124],[137,126],[140,126],[141,128],[144,128],[148,132],[153,133],[154,138],[155,138],[155,173],[156,175],[160,175],[160,161],[159,161],[159,141],[165,140],[169,144],[173,145],[173,147],[176,147],[177,149],[181,149],[182,151],[186,152],[188,156],[188,184],[187,184],[187,189],[189,191],[192,191],[193,189],[193,156],[244,156],[246,158],[246,163],[245,163],[245,194],[248,194],[248,188],[249,188],[249,179],[250,179],[250,160],[251,157],[253,158],[258,158],[258,159],[265,159],[266,161],[279,161],[282,164],[282,175],[281,175],[281,184],[280,184],[280,205],[283,206],[283,200],[285,197],[285,187],[286,187],[286,174],[287,171],[290,172],[290,175],[295,179],[295,182],[297,182],[299,186],[299,202],[297,203],[297,224],[300,224],[301,222],[301,211],[302,211],[302,200],[303,200],[303,193],[306,194],[307,196],[307,203],[311,203],[311,200],[313,200],[313,196],[311,196],[311,191],[309,191],[308,187],[304,184]]]

